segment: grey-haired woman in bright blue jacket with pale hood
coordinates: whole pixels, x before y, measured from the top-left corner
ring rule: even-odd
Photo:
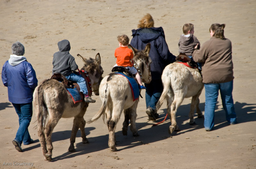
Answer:
[[[12,44],[10,59],[4,63],[2,81],[8,88],[8,98],[19,116],[19,129],[12,141],[16,150],[22,152],[21,144],[31,144],[28,126],[33,114],[33,92],[37,86],[36,72],[23,56],[25,48],[20,42]]]

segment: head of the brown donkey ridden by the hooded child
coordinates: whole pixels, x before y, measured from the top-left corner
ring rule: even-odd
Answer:
[[[100,66],[100,53],[96,54],[95,59],[86,59],[80,54],[77,54],[77,56],[79,56],[84,62],[84,66],[81,70],[87,71],[89,74],[89,78],[92,84],[92,91],[95,95],[99,95],[100,82],[103,79],[103,69]]]

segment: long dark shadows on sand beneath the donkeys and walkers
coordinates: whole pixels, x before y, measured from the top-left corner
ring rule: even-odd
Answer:
[[[217,106],[219,106],[219,105],[221,105],[221,103],[217,102]],[[202,111],[204,111],[204,103],[200,103],[199,107]],[[181,105],[178,108],[178,111],[176,114],[176,116],[177,116],[176,121],[177,121],[177,124],[179,125],[180,131],[179,132],[174,131],[172,133],[172,136],[180,135],[180,134],[184,134],[185,132],[204,128],[204,118],[197,118],[196,114],[195,114],[195,124],[189,125],[189,120],[188,120],[189,119],[189,117],[188,117],[189,109],[190,109],[190,104]],[[247,103],[236,102],[235,109],[236,109],[238,123],[246,123],[246,122],[250,122],[250,121],[256,121],[256,104],[247,104]],[[142,144],[149,144],[149,143],[157,142],[157,141],[172,137],[168,133],[168,128],[171,125],[169,117],[167,117],[167,119],[165,120],[164,123],[144,129],[145,126],[153,125],[155,123],[158,123],[158,122],[161,122],[164,120],[164,117],[166,115],[166,109],[162,109],[162,110],[164,112],[160,113],[159,118],[157,119],[156,122],[146,121],[144,123],[136,123],[137,130],[140,134],[139,137],[132,136],[130,127],[128,128],[127,136],[123,136],[122,129],[116,129],[115,134],[116,134],[117,149],[119,151],[122,151],[125,149],[140,146]],[[147,116],[140,117],[140,118],[148,119]],[[223,109],[215,111],[214,130],[226,127],[228,124],[225,122],[226,122],[225,111]],[[119,123],[122,123],[122,122],[119,122]],[[62,154],[60,156],[57,156],[57,157],[53,156],[52,162],[66,159],[66,158],[73,158],[73,157],[88,154],[91,152],[97,152],[97,151],[101,151],[104,149],[108,149],[108,134],[102,135],[102,136],[97,136],[97,137],[88,137],[92,130],[95,130],[95,128],[94,127],[85,127],[85,132],[86,132],[86,136],[89,140],[89,144],[83,144],[82,142],[75,143],[75,147],[76,147],[75,152],[65,152],[64,154]],[[52,133],[52,142],[69,139],[70,135],[71,135],[71,130],[54,132],[54,133]],[[154,136],[154,137],[152,137],[152,136]],[[77,132],[76,137],[81,137],[80,130]],[[34,143],[35,142],[39,142],[39,140],[37,139],[34,141]],[[124,148],[120,148],[121,146]],[[34,146],[31,146],[31,147],[23,149],[23,150],[28,151],[28,150],[38,148],[38,147],[40,147],[40,144],[36,144]],[[63,148],[68,149],[68,147],[63,147]],[[109,151],[110,151],[110,149],[109,149]],[[89,156],[87,158],[89,158]]]

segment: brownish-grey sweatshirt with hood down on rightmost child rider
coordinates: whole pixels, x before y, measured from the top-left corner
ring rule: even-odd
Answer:
[[[198,43],[197,49],[200,49],[200,42],[195,35],[189,34],[190,36],[180,35],[179,41],[179,53],[186,53],[187,56],[192,56],[195,46]]]

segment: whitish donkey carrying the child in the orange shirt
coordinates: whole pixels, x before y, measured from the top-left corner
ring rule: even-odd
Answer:
[[[142,82],[150,83],[152,79],[149,66],[152,61],[148,56],[150,44],[146,45],[144,51],[138,51],[131,45],[128,45],[128,47],[133,51],[134,66],[141,73]],[[111,148],[111,151],[117,151],[115,144],[115,130],[123,110],[125,117],[123,123],[123,135],[127,135],[130,119],[133,136],[139,136],[135,125],[137,117],[136,109],[139,99],[133,101],[132,90],[128,80],[124,76],[115,73],[110,73],[102,79],[99,92],[102,105],[98,113],[92,117],[92,119],[88,120],[87,123],[92,123],[99,119],[101,115],[103,115],[104,121],[106,116],[109,130],[108,146]]]

